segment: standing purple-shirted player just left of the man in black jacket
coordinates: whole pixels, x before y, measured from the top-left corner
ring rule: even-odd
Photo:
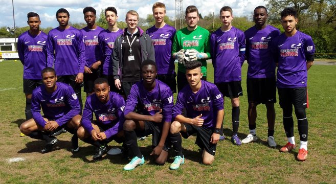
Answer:
[[[115,80],[113,79],[111,54],[113,53],[113,49],[115,47],[115,40],[118,36],[123,34],[123,30],[118,28],[118,14],[115,7],[107,7],[105,9],[105,19],[107,21],[108,28],[102,31],[98,36],[100,49],[103,53],[101,55],[101,60],[103,61],[103,76],[108,80],[111,91],[119,91],[119,89],[117,89],[114,85]]]

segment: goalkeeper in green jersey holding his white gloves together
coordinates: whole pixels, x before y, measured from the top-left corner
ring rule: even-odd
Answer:
[[[180,91],[188,85],[186,78],[185,62],[198,60],[202,63],[201,80],[207,80],[207,59],[210,59],[210,33],[208,30],[197,26],[199,20],[198,10],[195,6],[186,9],[187,27],[178,30],[172,44],[172,56],[178,60],[177,65],[177,90]]]

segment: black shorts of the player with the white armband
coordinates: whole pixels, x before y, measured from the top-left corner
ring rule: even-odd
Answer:
[[[241,81],[216,82],[215,85],[218,87],[220,93],[225,97],[233,99],[243,95]]]

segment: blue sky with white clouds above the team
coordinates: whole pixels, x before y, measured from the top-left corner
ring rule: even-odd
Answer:
[[[128,10],[136,10],[140,17],[146,18],[147,14],[152,13],[152,5],[157,1],[143,0],[141,5],[139,1],[130,0],[13,0],[14,1],[14,16],[15,26],[27,26],[27,13],[36,12],[41,19],[42,28],[57,27],[56,11],[59,8],[65,8],[70,13],[71,22],[83,22],[83,8],[92,6],[97,10],[97,16],[101,9],[113,6],[116,7],[119,19],[118,21],[125,21],[125,14]],[[166,5],[166,15],[175,17],[175,1],[160,1]],[[219,9],[223,6],[230,6],[233,9],[234,16],[250,16],[254,8],[262,5],[265,6],[265,1],[262,0],[184,0],[183,11],[189,5],[195,5],[199,13],[203,16],[214,12],[219,13]],[[0,12],[2,19],[0,19],[0,27],[14,27],[13,9],[11,0],[0,0]]]

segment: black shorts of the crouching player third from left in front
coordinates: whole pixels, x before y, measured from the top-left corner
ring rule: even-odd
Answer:
[[[150,121],[144,121],[145,129],[144,130],[136,130],[138,137],[143,137],[152,134],[152,148],[158,146],[161,140],[162,135],[162,123],[154,123]],[[163,150],[168,152],[167,148],[168,136],[166,138],[165,145],[163,146]]]

